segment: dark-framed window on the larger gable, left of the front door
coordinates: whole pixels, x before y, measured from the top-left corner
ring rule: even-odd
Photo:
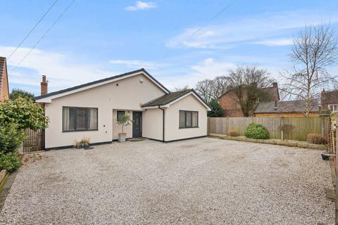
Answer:
[[[63,107],[63,131],[97,130],[97,108]]]

